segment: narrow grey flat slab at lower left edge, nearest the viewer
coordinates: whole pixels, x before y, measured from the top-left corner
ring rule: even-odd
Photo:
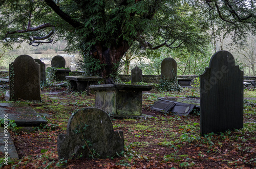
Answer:
[[[12,141],[12,137],[9,131],[5,130],[3,127],[0,127],[0,152],[4,153],[7,157],[18,159],[18,153]],[[0,157],[2,158],[3,156]]]

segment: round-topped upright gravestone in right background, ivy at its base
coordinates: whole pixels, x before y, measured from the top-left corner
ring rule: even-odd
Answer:
[[[165,58],[161,63],[161,79],[173,81],[177,77],[177,62],[173,58]]]

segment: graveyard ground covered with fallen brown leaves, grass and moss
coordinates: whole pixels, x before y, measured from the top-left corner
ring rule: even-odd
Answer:
[[[42,102],[26,102],[42,113],[48,124],[10,130],[19,160],[3,168],[253,168],[256,167],[256,91],[244,90],[244,128],[200,137],[198,111],[187,116],[153,111],[159,96],[198,96],[198,87],[181,92],[143,94],[142,113],[151,117],[114,119],[114,130],[124,133],[125,151],[108,159],[58,160],[57,136],[66,133],[71,113],[94,106],[95,95],[72,92],[67,86],[42,88]],[[4,93],[5,89],[1,89]],[[2,95],[2,94],[0,94]],[[2,95],[2,102],[3,95]],[[0,161],[0,166],[3,160]]]

